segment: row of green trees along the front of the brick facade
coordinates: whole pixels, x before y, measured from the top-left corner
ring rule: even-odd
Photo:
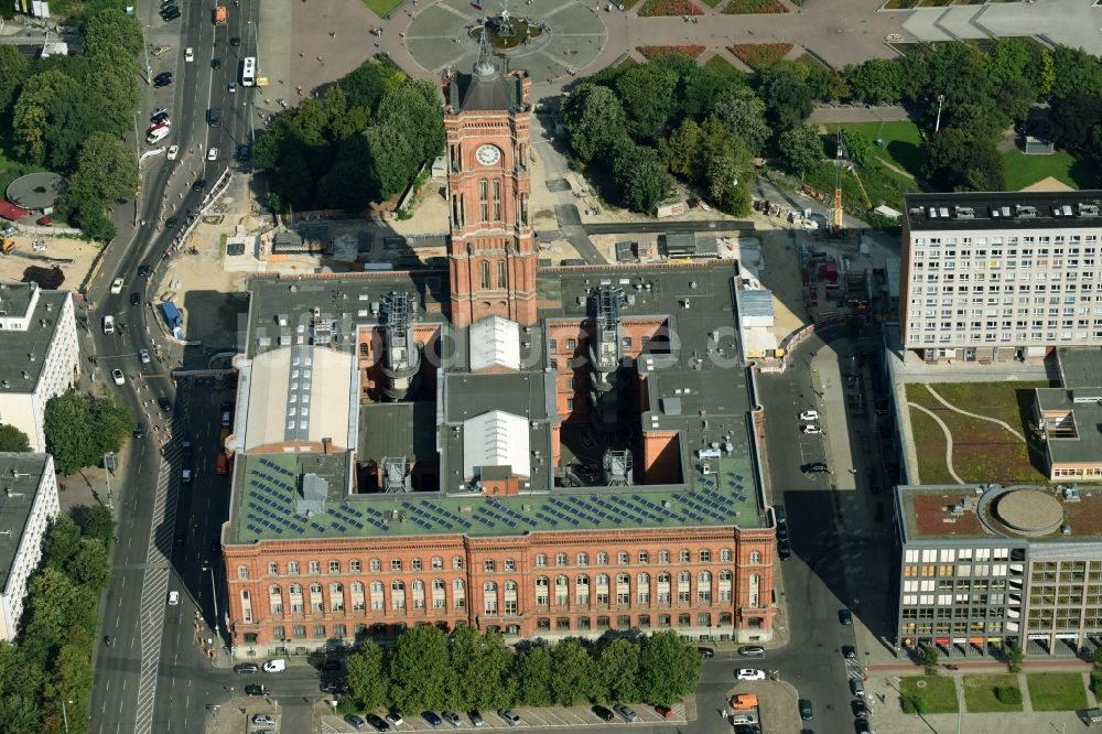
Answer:
[[[586,645],[534,641],[514,652],[499,633],[460,627],[407,629],[392,648],[366,641],[345,665],[347,711],[395,706],[425,710],[496,710],[645,702],[671,704],[696,687],[700,654],[677,633],[618,637]]]

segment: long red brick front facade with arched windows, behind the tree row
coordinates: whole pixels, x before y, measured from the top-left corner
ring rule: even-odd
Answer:
[[[731,527],[227,547],[234,652],[305,651],[417,624],[497,627],[512,640],[672,628],[761,641],[773,634],[773,549],[771,530]]]

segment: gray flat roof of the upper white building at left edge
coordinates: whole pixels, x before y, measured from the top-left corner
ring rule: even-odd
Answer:
[[[37,287],[35,287],[37,288]],[[30,314],[26,331],[0,332],[0,380],[9,392],[33,392],[46,361],[46,352],[57,331],[57,316],[71,298],[68,291],[39,290],[39,302]],[[0,315],[26,313],[31,300],[29,283],[3,283]]]

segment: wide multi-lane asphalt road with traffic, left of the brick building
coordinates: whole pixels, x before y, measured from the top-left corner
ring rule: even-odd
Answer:
[[[209,6],[182,3],[183,17],[168,24],[158,10],[145,7],[139,17],[149,29],[148,35],[162,39],[166,32],[179,34],[169,44],[170,54],[150,58],[154,75],[172,71],[174,80],[168,87],[143,90],[138,125],[143,128],[150,111],[166,107],[173,131],[159,145],[177,144],[181,154],[177,161],[153,156],[143,163],[137,206],[138,218],[147,226],[133,226],[132,208],[120,207],[115,213],[119,236],[107,248],[102,267],[88,287],[83,312],[89,328],[82,346],[95,360],[89,365],[90,377],[110,384],[109,371],[122,369],[127,381],[117,388],[118,395],[148,430],[144,439],[131,442],[128,460],[114,477],[118,543],[101,633],[114,644],[108,647],[100,641],[97,647],[91,704],[97,732],[150,732],[154,723],[159,731],[194,732],[205,715],[204,704],[231,695],[223,686],[228,688],[233,673],[212,671],[198,647],[194,616],[201,611],[207,625],[215,620],[210,572],[202,568],[208,564],[204,561],[210,557],[209,539],[217,536],[228,501],[224,478],[210,468],[217,434],[212,435],[213,413],[205,410],[217,397],[209,391],[183,390],[177,395],[170,370],[184,355],[180,347],[164,343],[152,310],[158,294],[147,292],[150,281],[140,278],[138,269],[148,265],[155,271],[165,262],[176,236],[175,228],[158,226],[159,217],[183,219],[190,209],[196,209],[205,192],[192,191],[195,180],[213,184],[231,163],[237,145],[251,142],[252,95],[261,91],[238,86],[230,93],[228,84],[238,80],[240,58],[256,55],[257,13],[251,0],[245,0],[230,8],[227,26],[216,28]],[[237,48],[229,46],[233,35],[241,37]],[[184,61],[188,46],[195,56],[191,63]],[[222,61],[220,68],[214,68],[213,58]],[[223,109],[219,127],[207,125],[210,107]],[[219,156],[207,161],[205,151],[212,147],[219,149]],[[143,142],[142,151],[145,149]],[[191,156],[188,151],[193,151]],[[121,294],[114,295],[108,284],[117,277],[126,285]],[[131,293],[139,294],[140,305],[131,305]],[[99,325],[109,313],[115,314],[120,328],[108,336]],[[156,355],[144,367],[137,356],[142,348]],[[159,398],[174,403],[173,410],[161,411]],[[179,438],[185,432],[195,436],[193,461],[198,469],[190,487],[180,484],[185,458],[179,441],[165,441],[170,433]],[[183,533],[182,546],[174,543],[177,531]],[[219,564],[208,565],[220,572]],[[169,591],[181,592],[179,605],[166,604]],[[207,625],[201,629],[209,637]],[[316,676],[313,690],[317,690]]]

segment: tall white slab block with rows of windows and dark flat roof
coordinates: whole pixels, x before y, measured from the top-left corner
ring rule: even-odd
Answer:
[[[936,361],[1102,345],[1102,192],[907,194],[903,345]]]

